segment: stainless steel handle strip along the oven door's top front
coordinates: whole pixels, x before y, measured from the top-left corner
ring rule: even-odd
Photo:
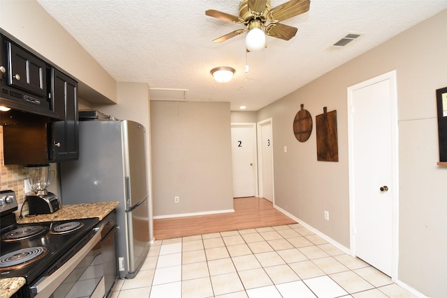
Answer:
[[[71,257],[64,265],[53,272],[50,276],[45,276],[31,287],[31,292],[36,294],[34,298],[50,297],[54,290],[61,285],[66,277],[73,272],[76,266],[87,256],[91,249],[101,241],[101,231],[103,230],[103,224],[94,228],[95,235],[82,246],[82,249],[78,251],[73,257]]]

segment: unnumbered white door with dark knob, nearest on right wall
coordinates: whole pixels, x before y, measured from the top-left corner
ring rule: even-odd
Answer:
[[[349,88],[353,254],[393,276],[397,222],[395,72]]]

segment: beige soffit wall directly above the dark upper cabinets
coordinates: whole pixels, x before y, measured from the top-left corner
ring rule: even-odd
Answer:
[[[78,79],[79,94],[117,102],[116,81],[35,0],[1,0],[0,27]]]

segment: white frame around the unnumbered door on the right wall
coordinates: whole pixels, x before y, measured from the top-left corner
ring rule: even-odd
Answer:
[[[380,81],[390,80],[390,88],[391,88],[391,123],[392,123],[392,156],[393,156],[393,173],[392,173],[392,185],[393,187],[393,196],[392,196],[392,206],[393,206],[393,212],[392,212],[392,234],[393,234],[393,240],[392,240],[392,275],[391,279],[393,281],[397,281],[397,273],[398,273],[398,265],[399,265],[399,152],[398,152],[398,144],[399,144],[399,138],[398,138],[398,118],[397,118],[397,79],[396,79],[396,71],[393,70],[391,72],[387,72],[383,75],[379,75],[378,77],[374,77],[372,79],[369,79],[367,81],[363,81],[359,84],[356,84],[354,86],[348,87],[348,141],[349,141],[349,219],[350,219],[350,228],[351,228],[351,240],[350,240],[350,246],[351,246],[351,256],[356,256],[356,247],[355,247],[355,224],[356,224],[356,218],[354,214],[354,206],[356,204],[356,198],[354,198],[354,191],[353,191],[353,116],[352,116],[352,101],[353,101],[353,91],[356,91],[360,88],[364,88],[366,86],[379,83]]]

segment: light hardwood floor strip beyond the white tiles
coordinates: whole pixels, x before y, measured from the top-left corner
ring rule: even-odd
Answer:
[[[234,198],[235,212],[154,219],[154,237],[164,240],[176,237],[281,226],[295,224],[296,221],[274,209],[265,198]]]

